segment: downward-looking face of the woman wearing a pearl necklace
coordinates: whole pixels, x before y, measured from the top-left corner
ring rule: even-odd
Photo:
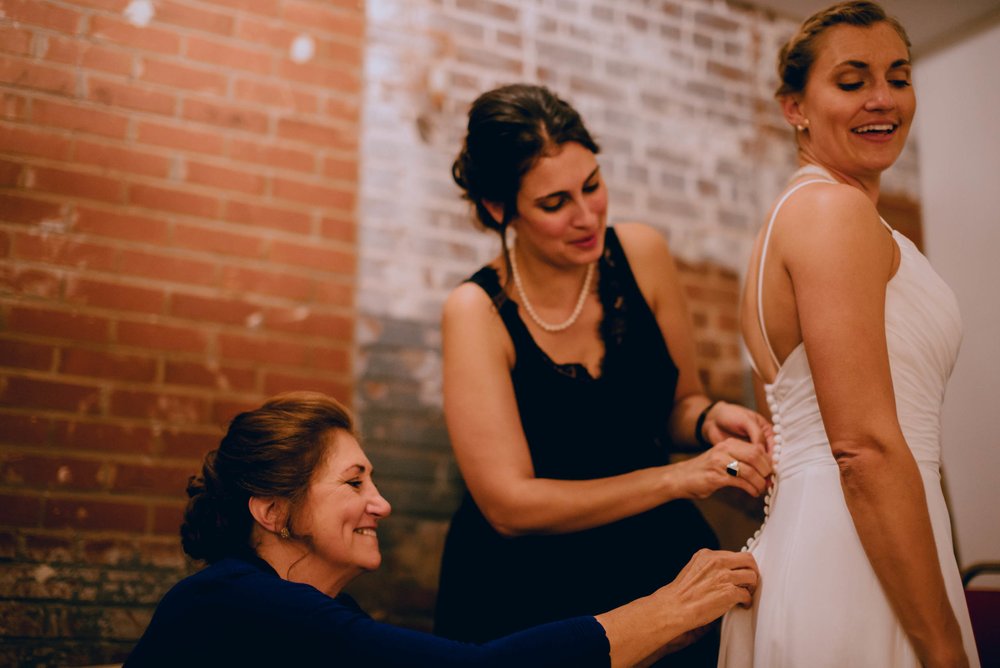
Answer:
[[[597,156],[569,142],[539,157],[521,178],[510,224],[520,252],[556,266],[579,266],[603,252],[607,210]]]

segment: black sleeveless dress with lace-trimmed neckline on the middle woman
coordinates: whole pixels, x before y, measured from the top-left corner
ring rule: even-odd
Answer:
[[[469,279],[493,299],[514,342],[511,380],[540,478],[587,480],[668,463],[677,367],[612,228],[599,270],[598,378],[583,365],[556,364],[535,344],[494,269]],[[484,642],[606,612],[668,583],[703,547],[718,541],[686,500],[575,533],[505,538],[466,492],[445,541],[434,631]],[[715,666],[717,651],[717,634],[708,634],[662,665]]]

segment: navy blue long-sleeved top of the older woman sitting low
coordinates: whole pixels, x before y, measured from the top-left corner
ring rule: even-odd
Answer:
[[[482,645],[446,640],[375,621],[349,596],[226,560],[168,592],[126,665],[604,668],[610,646],[593,617]]]

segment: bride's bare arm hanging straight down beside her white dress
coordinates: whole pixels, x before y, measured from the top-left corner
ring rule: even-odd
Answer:
[[[814,186],[786,204],[776,225],[775,250],[868,559],[924,665],[966,665],[923,483],[896,415],[885,334],[895,243],[871,202],[848,186]]]

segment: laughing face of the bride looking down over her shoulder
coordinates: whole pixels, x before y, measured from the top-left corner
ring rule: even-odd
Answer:
[[[906,44],[886,22],[837,25],[816,43],[805,90],[782,98],[803,155],[857,180],[899,157],[916,111]]]

